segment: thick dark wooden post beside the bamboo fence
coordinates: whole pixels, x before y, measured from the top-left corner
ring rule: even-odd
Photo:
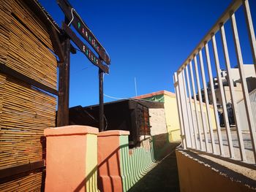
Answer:
[[[65,18],[65,23],[69,21]],[[59,64],[59,99],[57,126],[69,125],[70,39],[64,40],[64,63]]]

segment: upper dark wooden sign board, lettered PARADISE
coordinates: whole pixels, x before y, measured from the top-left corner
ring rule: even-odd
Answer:
[[[72,26],[78,31],[78,33],[86,39],[87,42],[94,48],[94,50],[99,54],[99,58],[105,61],[106,64],[110,64],[110,58],[104,47],[99,43],[97,38],[91,32],[91,30],[86,26],[86,23],[80,18],[75,9],[72,8],[71,4],[69,4],[66,0],[57,0],[59,7],[61,7],[64,15],[71,21]]]

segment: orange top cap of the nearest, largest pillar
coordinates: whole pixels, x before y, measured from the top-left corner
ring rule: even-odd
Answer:
[[[61,126],[56,128],[46,128],[44,134],[46,137],[58,135],[74,134],[98,134],[98,128],[91,126]]]

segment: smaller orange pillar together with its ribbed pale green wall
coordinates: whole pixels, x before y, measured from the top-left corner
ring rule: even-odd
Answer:
[[[101,191],[128,191],[154,167],[151,138],[129,150],[129,131],[98,134],[98,184]]]

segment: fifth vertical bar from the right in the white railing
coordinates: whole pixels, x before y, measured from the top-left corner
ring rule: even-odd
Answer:
[[[209,48],[208,48],[207,42],[205,44],[205,47],[206,47],[206,61],[208,66],[208,76],[209,76],[210,86],[211,86],[211,96],[212,96],[213,105],[214,105],[214,117],[215,117],[215,123],[217,127],[217,135],[219,139],[219,153],[220,155],[223,156],[224,150],[223,150],[223,142],[222,142],[222,131],[220,130],[220,125],[219,125],[219,114],[218,114],[217,101],[216,101],[216,95],[215,95],[215,89],[214,89],[214,81],[213,81],[212,70],[211,70],[210,54],[209,54]]]

